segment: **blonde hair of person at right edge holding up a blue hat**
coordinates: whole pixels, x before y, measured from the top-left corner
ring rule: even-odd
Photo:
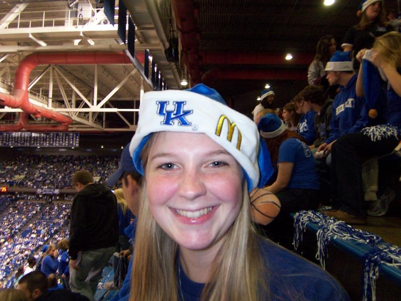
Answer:
[[[382,54],[382,58],[396,68],[401,67],[401,34],[388,32],[376,39],[373,48]]]

